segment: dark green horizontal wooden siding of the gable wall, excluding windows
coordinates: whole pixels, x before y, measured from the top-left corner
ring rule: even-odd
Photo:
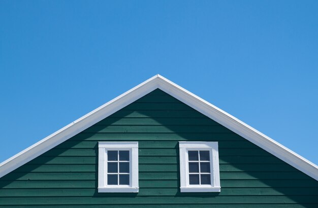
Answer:
[[[98,193],[98,141],[139,142],[139,193]],[[217,141],[220,193],[180,193],[178,141]],[[318,181],[155,90],[0,179],[0,206],[318,207]]]

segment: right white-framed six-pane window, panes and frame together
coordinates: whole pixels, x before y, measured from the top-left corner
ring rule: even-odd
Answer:
[[[217,142],[179,142],[180,191],[219,192]]]

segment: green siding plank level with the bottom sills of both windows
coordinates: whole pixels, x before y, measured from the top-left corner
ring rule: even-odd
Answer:
[[[0,197],[37,197],[37,196],[132,196],[132,193],[97,193],[96,188],[69,189],[0,189]],[[178,188],[140,188],[137,196],[210,196],[211,193],[180,193]],[[221,188],[219,196],[244,195],[318,195],[317,187],[299,188]]]

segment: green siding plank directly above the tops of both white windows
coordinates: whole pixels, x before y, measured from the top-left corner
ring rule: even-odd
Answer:
[[[76,141],[245,141],[235,133],[80,133],[70,140]],[[69,141],[70,141],[69,140]]]

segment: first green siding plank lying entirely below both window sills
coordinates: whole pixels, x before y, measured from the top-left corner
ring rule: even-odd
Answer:
[[[317,202],[316,196],[232,196],[229,201],[227,196],[218,197],[171,197],[171,196],[149,196],[149,197],[15,197],[2,198],[2,204],[236,204],[236,203],[308,203]]]

